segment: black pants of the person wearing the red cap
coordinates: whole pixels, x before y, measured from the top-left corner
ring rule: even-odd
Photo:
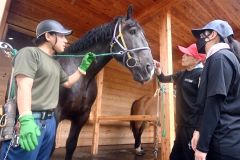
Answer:
[[[170,160],[194,160],[194,151],[191,146],[191,139],[194,128],[177,127],[176,139],[170,154]]]

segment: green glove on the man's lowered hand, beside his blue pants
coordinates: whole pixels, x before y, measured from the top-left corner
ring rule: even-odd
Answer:
[[[21,148],[27,151],[34,150],[38,145],[38,136],[41,135],[38,125],[31,114],[20,117],[19,122]]]

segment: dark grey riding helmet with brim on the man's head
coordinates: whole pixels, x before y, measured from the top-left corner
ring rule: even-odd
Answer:
[[[72,30],[68,30],[63,27],[59,22],[51,19],[41,21],[36,28],[36,37],[39,38],[41,35],[47,32],[62,33],[64,35],[70,35]]]

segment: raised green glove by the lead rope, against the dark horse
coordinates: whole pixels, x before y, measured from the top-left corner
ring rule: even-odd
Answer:
[[[90,65],[95,59],[96,59],[96,55],[92,52],[88,52],[83,57],[82,63],[79,65],[78,70],[85,75],[86,71],[88,70],[88,68],[90,67]]]

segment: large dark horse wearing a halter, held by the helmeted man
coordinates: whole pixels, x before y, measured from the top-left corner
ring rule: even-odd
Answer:
[[[66,160],[72,159],[79,133],[87,122],[96,99],[96,75],[112,58],[126,67],[136,82],[144,84],[152,79],[154,64],[151,50],[143,29],[132,18],[132,13],[130,6],[125,16],[116,17],[112,22],[92,29],[65,50],[66,54],[76,55],[93,52],[97,57],[87,74],[72,88],[60,88],[56,119],[58,123],[64,119],[71,121],[66,142]],[[111,54],[101,56],[101,53]],[[81,58],[60,57],[58,61],[65,72],[71,74],[76,71]]]

